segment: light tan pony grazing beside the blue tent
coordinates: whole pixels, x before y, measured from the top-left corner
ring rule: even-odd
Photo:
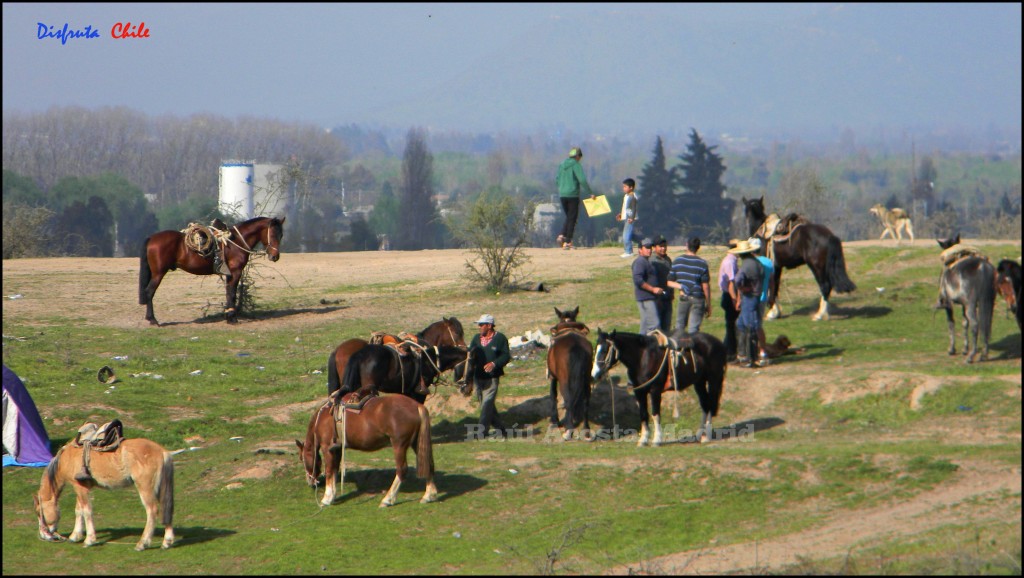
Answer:
[[[33,495],[36,515],[39,519],[39,538],[50,542],[62,541],[57,533],[60,522],[60,493],[66,485],[75,489],[75,530],[70,539],[82,541],[85,545],[96,543],[96,528],[92,522],[91,490],[96,486],[108,489],[126,488],[132,484],[145,506],[145,529],[142,538],[135,544],[136,550],[150,546],[157,524],[157,510],[163,510],[164,542],[169,548],[174,543],[174,462],[171,454],[156,442],[134,438],[124,439],[111,452],[93,449],[89,460],[91,479],[77,480],[82,470],[82,448],[69,443],[53,456],[39,483],[39,492]]]

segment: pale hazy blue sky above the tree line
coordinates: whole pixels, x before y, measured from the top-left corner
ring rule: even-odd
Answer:
[[[143,23],[147,37],[112,37]],[[96,37],[62,42],[66,24]],[[4,3],[4,113],[52,106],[464,131],[1019,133],[1021,7]]]

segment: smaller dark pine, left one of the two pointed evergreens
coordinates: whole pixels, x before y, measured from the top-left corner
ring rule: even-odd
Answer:
[[[679,198],[675,194],[676,170],[666,168],[665,144],[658,136],[654,158],[644,165],[637,182],[637,235],[664,235],[671,239],[679,231]]]

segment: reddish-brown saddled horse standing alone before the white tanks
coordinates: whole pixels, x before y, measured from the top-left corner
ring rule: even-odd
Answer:
[[[228,228],[229,236],[219,253],[226,274],[217,271],[216,251],[203,255],[190,249],[185,242],[185,234],[180,231],[161,231],[146,237],[142,242],[138,272],[138,302],[145,305],[146,321],[160,325],[153,314],[153,297],[164,276],[180,269],[193,275],[222,275],[227,286],[224,315],[229,323],[234,323],[239,306],[238,286],[249,257],[257,254],[256,246],[262,244],[271,261],[281,258],[284,224],[285,217],[256,217]]]

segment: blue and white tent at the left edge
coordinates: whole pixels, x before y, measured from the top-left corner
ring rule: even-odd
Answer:
[[[17,375],[3,366],[3,465],[43,467],[53,459],[50,438],[32,396]]]

